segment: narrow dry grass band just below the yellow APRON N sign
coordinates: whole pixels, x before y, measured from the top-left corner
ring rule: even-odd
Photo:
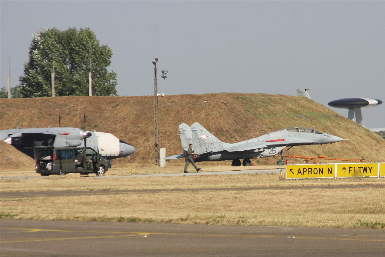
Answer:
[[[321,186],[321,185],[367,185],[383,184],[377,178],[344,178],[312,180],[280,180],[278,174],[257,175],[206,175],[177,177],[136,178],[80,178],[79,175],[57,176],[52,179],[5,180],[0,191],[99,191],[134,189],[177,189],[177,188],[235,188],[235,187],[277,187],[277,186]]]

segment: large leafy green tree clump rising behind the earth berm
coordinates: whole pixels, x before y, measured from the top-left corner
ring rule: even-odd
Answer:
[[[51,73],[55,69],[57,96],[88,95],[89,76],[92,72],[94,96],[116,96],[116,73],[108,72],[112,50],[99,45],[89,28],[69,28],[65,31],[40,29],[31,39],[28,62],[20,77],[23,97],[51,96]]]

